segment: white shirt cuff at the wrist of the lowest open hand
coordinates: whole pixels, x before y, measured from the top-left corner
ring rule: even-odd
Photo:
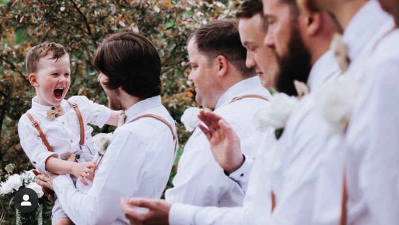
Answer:
[[[169,225],[192,225],[198,206],[175,203],[169,210]]]

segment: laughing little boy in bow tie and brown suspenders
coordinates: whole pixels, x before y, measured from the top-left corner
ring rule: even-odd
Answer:
[[[84,96],[64,99],[70,86],[70,68],[62,45],[44,42],[33,47],[26,56],[26,68],[36,96],[18,123],[22,148],[39,171],[71,174],[88,185],[97,150],[91,137],[93,128],[87,124],[117,125],[120,112]],[[66,160],[70,154],[75,154],[74,161]],[[57,199],[51,220],[57,225],[73,224]]]

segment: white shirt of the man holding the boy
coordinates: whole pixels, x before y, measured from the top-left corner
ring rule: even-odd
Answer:
[[[176,133],[160,96],[142,100],[126,111],[126,123],[112,135],[87,193],[77,190],[67,175],[53,180],[62,209],[75,224],[129,224],[121,197],[161,196],[173,165],[175,142],[169,127],[159,120],[145,117],[129,123],[143,114],[164,118]]]

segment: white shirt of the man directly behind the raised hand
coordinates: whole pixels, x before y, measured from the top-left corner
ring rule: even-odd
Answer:
[[[262,87],[259,78],[252,77],[233,85],[223,93],[214,112],[222,116],[236,131],[246,157],[254,158],[263,133],[256,130],[253,116],[259,108],[266,107],[268,102],[258,98],[244,98],[231,102],[234,97],[244,95],[271,98],[270,93]],[[165,193],[165,199],[170,203],[238,206],[242,205],[245,195],[245,190],[226,176],[215,161],[208,139],[200,129],[193,131],[184,147],[173,185],[174,187]]]

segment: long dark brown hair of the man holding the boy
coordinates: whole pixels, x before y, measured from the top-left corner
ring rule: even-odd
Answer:
[[[161,60],[144,36],[121,32],[107,37],[94,56],[95,69],[109,80],[104,85],[140,99],[161,94]]]

